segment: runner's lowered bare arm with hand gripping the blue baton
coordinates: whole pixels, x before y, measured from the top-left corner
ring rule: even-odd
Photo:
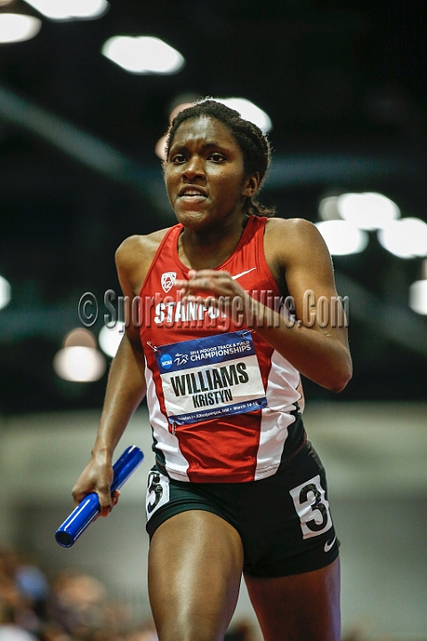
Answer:
[[[141,252],[143,248],[141,239],[133,237],[125,240],[117,249],[118,278],[123,293],[125,296],[129,296],[131,304],[133,297],[139,293],[147,272],[147,254]],[[87,494],[96,492],[100,498],[101,515],[103,516],[109,514],[118,498],[118,492],[112,498],[110,496],[114,450],[146,392],[145,358],[139,330],[132,323],[126,324],[129,324],[129,327],[125,329],[125,334],[109,370],[109,382],[101,414],[101,423],[93,446],[92,457],[72,491],[75,506]]]

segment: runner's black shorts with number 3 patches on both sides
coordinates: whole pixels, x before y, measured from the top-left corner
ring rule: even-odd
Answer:
[[[311,572],[338,556],[325,468],[310,442],[275,475],[249,483],[185,483],[155,466],[146,507],[150,538],[180,512],[197,509],[221,516],[240,535],[244,572],[250,576]]]

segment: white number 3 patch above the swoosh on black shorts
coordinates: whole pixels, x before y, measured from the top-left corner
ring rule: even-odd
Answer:
[[[318,536],[332,527],[329,503],[319,475],[290,490],[289,494],[294,499],[294,506],[300,517],[302,539]]]

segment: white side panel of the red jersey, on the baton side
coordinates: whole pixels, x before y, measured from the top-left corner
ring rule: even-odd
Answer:
[[[175,481],[189,481],[187,475],[189,462],[182,456],[177,437],[169,432],[169,423],[162,410],[160,410],[160,403],[158,402],[156,394],[156,385],[151,370],[148,367],[145,368],[145,379],[147,382],[147,404],[149,406],[149,418],[153,428],[153,436],[158,442],[159,450],[165,453],[167,473],[175,479]]]

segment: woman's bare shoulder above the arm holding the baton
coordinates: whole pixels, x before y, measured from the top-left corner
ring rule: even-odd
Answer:
[[[117,272],[122,285],[127,283],[139,293],[160,243],[170,228],[125,239],[116,251]]]

